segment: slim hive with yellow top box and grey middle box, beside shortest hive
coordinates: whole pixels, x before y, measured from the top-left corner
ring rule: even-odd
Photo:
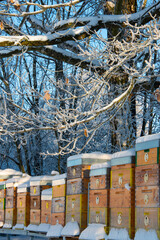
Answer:
[[[52,181],[52,217],[51,223],[65,225],[66,211],[66,179],[67,174],[61,174],[54,177]]]

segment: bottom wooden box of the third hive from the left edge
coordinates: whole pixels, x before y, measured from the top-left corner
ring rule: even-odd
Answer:
[[[30,223],[30,209],[17,208],[17,223],[28,226]]]

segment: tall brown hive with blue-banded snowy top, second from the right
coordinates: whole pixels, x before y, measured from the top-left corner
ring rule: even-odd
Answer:
[[[135,150],[118,152],[111,159],[110,227],[135,233]]]

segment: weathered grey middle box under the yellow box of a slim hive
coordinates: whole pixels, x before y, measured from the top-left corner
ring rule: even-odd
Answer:
[[[60,213],[65,211],[65,197],[52,199],[52,213]]]

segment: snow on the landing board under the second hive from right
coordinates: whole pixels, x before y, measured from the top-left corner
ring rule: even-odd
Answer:
[[[130,240],[128,231],[125,228],[111,228],[108,237],[109,239],[115,239],[115,240]],[[141,239],[142,240],[142,239]],[[145,239],[146,240],[146,239]]]

